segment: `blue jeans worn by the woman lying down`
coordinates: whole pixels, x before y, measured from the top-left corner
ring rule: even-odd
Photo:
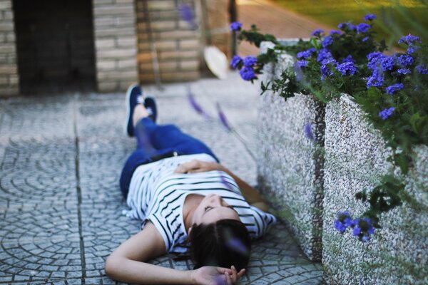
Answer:
[[[134,129],[137,149],[128,157],[121,174],[121,191],[126,198],[131,177],[136,168],[153,162],[151,157],[177,152],[178,155],[206,153],[218,160],[208,146],[190,135],[182,133],[175,125],[156,125],[149,118],[141,119]]]

